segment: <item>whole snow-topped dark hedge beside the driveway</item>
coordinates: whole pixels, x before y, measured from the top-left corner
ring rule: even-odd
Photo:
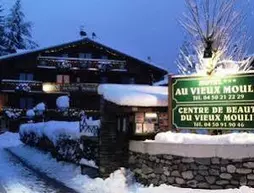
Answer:
[[[93,120],[88,121],[88,124],[91,122],[98,124],[98,121]],[[78,121],[49,121],[22,124],[19,134],[23,143],[49,151],[58,160],[65,160],[76,164],[80,164],[81,160],[83,160],[82,162],[88,160],[95,162],[94,165],[97,164],[96,157],[93,154],[98,152],[98,141],[96,143],[82,143],[80,145],[81,134],[80,123]],[[82,135],[93,136],[92,133],[82,133]],[[89,152],[84,151],[87,149],[89,149]]]

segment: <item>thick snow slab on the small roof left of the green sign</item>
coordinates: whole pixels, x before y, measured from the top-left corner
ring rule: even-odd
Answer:
[[[121,106],[168,106],[168,88],[165,86],[101,84],[98,93]]]

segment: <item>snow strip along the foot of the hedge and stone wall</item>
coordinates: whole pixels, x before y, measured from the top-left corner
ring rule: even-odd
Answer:
[[[241,187],[240,189],[229,190],[197,190],[184,189],[168,185],[161,185],[160,187],[143,187],[140,184],[134,183],[130,172],[120,169],[115,171],[111,176],[105,180],[101,178],[91,179],[88,176],[81,175],[80,168],[76,165],[57,162],[50,154],[42,153],[34,148],[20,145],[17,134],[0,135],[0,144],[10,141],[9,146],[13,145],[10,150],[22,157],[33,167],[40,171],[47,173],[59,181],[62,181],[67,186],[81,192],[81,193],[253,193],[254,190],[248,187]],[[1,168],[0,168],[1,169]],[[1,171],[1,170],[0,170]],[[1,172],[0,172],[1,173]],[[15,188],[25,187],[15,186]],[[15,191],[13,191],[15,192]],[[15,192],[18,193],[18,192]]]

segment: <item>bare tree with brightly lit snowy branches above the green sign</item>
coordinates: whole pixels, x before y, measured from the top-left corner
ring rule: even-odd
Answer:
[[[249,38],[243,10],[236,0],[185,0],[187,12],[180,24],[188,39],[176,61],[182,74],[247,71]],[[237,1],[239,3],[239,1]],[[205,56],[204,56],[205,54]]]

